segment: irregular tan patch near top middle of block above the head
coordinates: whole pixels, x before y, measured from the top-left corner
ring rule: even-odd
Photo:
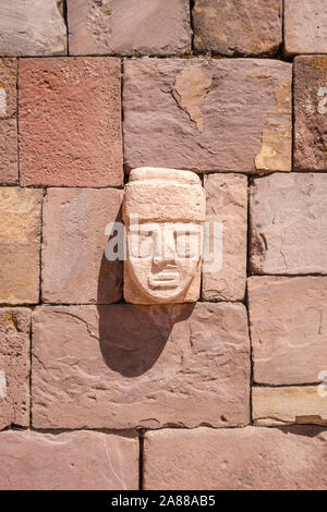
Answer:
[[[172,96],[175,101],[187,112],[190,119],[196,123],[199,133],[204,130],[201,107],[211,83],[211,78],[206,76],[201,68],[184,68],[177,75],[172,89]]]

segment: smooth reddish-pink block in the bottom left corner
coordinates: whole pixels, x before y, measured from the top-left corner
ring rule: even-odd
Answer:
[[[92,431],[0,434],[1,490],[136,490],[138,442]]]

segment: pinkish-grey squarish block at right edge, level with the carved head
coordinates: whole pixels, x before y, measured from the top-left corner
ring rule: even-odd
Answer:
[[[271,174],[250,188],[251,271],[327,273],[327,174]]]

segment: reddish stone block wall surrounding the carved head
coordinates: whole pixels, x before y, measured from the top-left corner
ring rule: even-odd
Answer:
[[[326,488],[326,1],[11,0],[0,53],[0,488]],[[143,166],[223,225],[196,304],[104,255]]]

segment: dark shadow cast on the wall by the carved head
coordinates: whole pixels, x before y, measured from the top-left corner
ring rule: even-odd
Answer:
[[[116,220],[121,220],[121,211]],[[124,377],[132,378],[145,374],[155,365],[174,324],[186,320],[193,312],[194,304],[100,305],[107,302],[108,287],[112,285],[112,276],[116,276],[122,283],[122,263],[108,261],[104,251],[97,294],[99,343],[107,366]],[[120,297],[122,297],[122,289]],[[117,300],[119,301],[119,297]]]

